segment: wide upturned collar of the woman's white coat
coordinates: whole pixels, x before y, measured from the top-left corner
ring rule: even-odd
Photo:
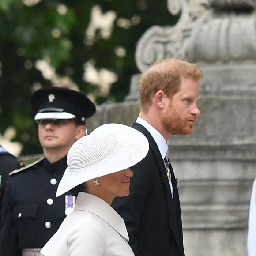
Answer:
[[[123,218],[108,203],[97,196],[79,192],[74,210],[89,211],[97,215],[129,241]]]

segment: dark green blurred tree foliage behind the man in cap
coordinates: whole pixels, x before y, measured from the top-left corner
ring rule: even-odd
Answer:
[[[153,25],[177,22],[166,5],[167,0],[0,0],[0,133],[14,126],[22,155],[41,153],[30,95],[37,84],[52,83],[36,68],[38,60],[47,60],[58,76],[69,77],[85,94],[98,90],[83,79],[84,64],[90,60],[97,70],[117,74],[107,95],[95,94],[95,103],[122,101],[131,76],[139,72],[136,42]],[[113,30],[109,38],[97,30],[86,43],[95,6],[103,14],[115,13]],[[118,47],[124,55],[116,53]]]

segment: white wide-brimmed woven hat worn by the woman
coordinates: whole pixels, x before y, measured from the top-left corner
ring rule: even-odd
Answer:
[[[78,139],[68,151],[68,167],[56,197],[94,178],[115,173],[140,162],[147,155],[147,138],[124,124],[103,124]]]

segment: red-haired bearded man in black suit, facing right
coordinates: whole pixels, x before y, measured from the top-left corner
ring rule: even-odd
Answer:
[[[196,64],[178,59],[155,62],[141,76],[141,111],[132,127],[147,137],[150,149],[131,168],[130,195],[112,204],[124,218],[136,256],[184,256],[178,182],[167,141],[193,132],[202,77]]]

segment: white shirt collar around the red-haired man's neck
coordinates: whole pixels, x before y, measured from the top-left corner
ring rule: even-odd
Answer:
[[[162,134],[141,117],[137,117],[136,123],[141,124],[151,134],[155,143],[158,146],[162,158],[164,159],[168,150],[168,144]]]

